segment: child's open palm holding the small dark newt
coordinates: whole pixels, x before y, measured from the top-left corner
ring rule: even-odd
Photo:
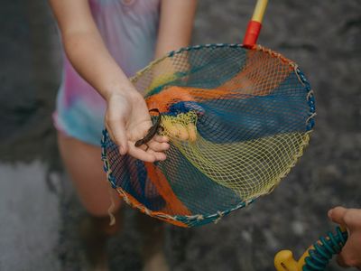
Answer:
[[[143,97],[135,91],[116,93],[107,98],[106,129],[111,139],[119,146],[120,154],[130,154],[144,162],[165,160],[163,153],[170,145],[168,138],[155,135],[146,145],[135,147],[153,125]]]

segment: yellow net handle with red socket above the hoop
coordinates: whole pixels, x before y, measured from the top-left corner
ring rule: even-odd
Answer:
[[[268,0],[257,0],[254,14],[251,21],[248,22],[247,30],[245,31],[243,45],[246,48],[252,48],[257,42],[258,35],[261,32],[262,21],[264,19],[264,12],[267,4]]]

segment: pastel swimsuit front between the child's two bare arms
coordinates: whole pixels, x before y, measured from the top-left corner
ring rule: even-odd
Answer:
[[[89,0],[106,47],[127,76],[153,59],[160,0]]]

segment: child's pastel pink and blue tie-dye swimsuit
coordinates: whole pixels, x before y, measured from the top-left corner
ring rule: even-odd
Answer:
[[[128,77],[153,59],[160,1],[89,0],[108,51]],[[99,145],[105,110],[105,100],[79,76],[64,56],[54,113],[57,129],[83,142]]]

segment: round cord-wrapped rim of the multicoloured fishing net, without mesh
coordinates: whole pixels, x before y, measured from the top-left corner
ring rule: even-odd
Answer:
[[[202,48],[224,48],[224,47],[227,47],[227,48],[242,47],[242,48],[244,48],[244,46],[242,44],[237,44],[237,43],[231,43],[231,44],[214,43],[214,44],[195,45],[195,46],[180,48],[180,50],[171,51],[164,57],[151,62],[143,70],[138,71],[135,74],[135,76],[133,78],[131,78],[130,80],[133,83],[136,82],[140,77],[142,77],[144,72],[152,69],[155,64],[159,63],[160,61],[162,61],[166,58],[171,58],[174,55],[177,55],[182,51],[194,51],[194,50],[200,50]],[[305,146],[307,146],[309,144],[310,133],[312,132],[312,128],[314,126],[314,117],[316,116],[316,110],[315,110],[315,99],[314,99],[313,91],[310,88],[310,83],[305,78],[305,76],[303,75],[303,73],[301,72],[301,70],[299,69],[298,65],[295,62],[283,57],[282,54],[272,51],[270,49],[267,49],[261,45],[255,45],[251,49],[247,48],[247,50],[262,51],[262,52],[272,56],[273,58],[277,58],[277,59],[281,60],[283,63],[290,65],[290,67],[292,67],[292,69],[295,71],[295,74],[297,75],[299,81],[303,85],[305,91],[307,91],[307,102],[310,107],[310,111],[309,111],[310,117],[308,117],[306,124],[305,124],[307,127],[307,132],[305,133],[305,135],[303,137],[303,140],[302,140],[302,143],[298,150],[298,153],[295,154],[293,157],[293,163],[289,166],[289,168],[286,171],[284,171],[282,174],[280,174],[278,176],[278,178],[277,178],[278,180],[273,185],[272,189],[270,189],[268,192],[260,193],[251,199],[246,199],[245,201],[242,201],[239,204],[237,204],[234,208],[230,208],[227,210],[218,210],[217,212],[214,212],[209,215],[195,214],[195,215],[190,215],[190,216],[188,216],[188,215],[171,216],[162,211],[153,211],[153,210],[147,209],[145,206],[143,206],[143,204],[136,201],[129,193],[125,192],[125,190],[123,190],[121,187],[116,186],[115,177],[112,174],[112,170],[111,170],[111,167],[110,167],[110,164],[109,164],[109,161],[107,158],[107,154],[106,154],[105,141],[106,141],[107,131],[105,129],[105,130],[103,130],[103,136],[101,139],[102,161],[104,164],[104,171],[106,172],[107,180],[110,182],[112,187],[114,189],[116,189],[116,191],[119,193],[121,198],[123,198],[126,203],[128,203],[135,209],[141,210],[143,213],[145,213],[151,217],[157,218],[159,220],[165,220],[173,225],[180,226],[180,227],[187,228],[187,227],[193,227],[193,226],[201,226],[201,225],[208,224],[209,222],[217,223],[219,220],[221,220],[223,217],[225,217],[230,212],[232,212],[234,210],[242,209],[242,208],[246,207],[247,205],[249,205],[250,203],[254,202],[260,196],[272,192],[274,187],[276,187],[279,184],[279,182],[281,182],[282,178],[284,178],[291,171],[292,167],[297,163],[298,159],[303,154],[303,150],[304,150]]]

